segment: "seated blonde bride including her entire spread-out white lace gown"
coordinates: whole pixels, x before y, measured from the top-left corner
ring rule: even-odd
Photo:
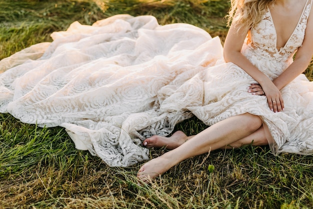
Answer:
[[[312,154],[313,83],[301,74],[313,53],[312,1],[232,1],[224,49],[202,29],[152,16],[74,22],[52,43],[0,61],[0,112],[64,127],[77,149],[109,166],[172,149],[140,168],[141,182],[242,144]],[[210,127],[163,137],[193,115]]]

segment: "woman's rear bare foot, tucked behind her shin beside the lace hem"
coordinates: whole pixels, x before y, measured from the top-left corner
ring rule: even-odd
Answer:
[[[175,149],[176,147],[183,144],[187,139],[186,134],[184,134],[182,131],[176,131],[173,133],[170,137],[165,136],[151,136],[150,138],[145,139],[142,142],[142,145],[151,148],[161,148],[166,147],[166,149]]]

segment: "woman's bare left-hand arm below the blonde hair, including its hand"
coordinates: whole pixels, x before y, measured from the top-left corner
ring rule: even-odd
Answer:
[[[237,30],[237,28],[238,26],[236,24],[232,24],[228,31],[223,51],[225,61],[236,64],[259,83],[266,95],[268,106],[272,111],[282,111],[284,106],[279,89],[265,74],[259,71],[241,54],[241,48],[248,31],[244,29]]]

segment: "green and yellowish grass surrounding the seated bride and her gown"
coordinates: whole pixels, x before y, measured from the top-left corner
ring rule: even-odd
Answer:
[[[73,21],[115,14],[190,23],[222,40],[226,1],[0,0],[0,59],[51,41]],[[306,75],[313,80],[312,66]],[[191,118],[176,129],[195,134]],[[151,150],[154,158],[166,150]],[[62,128],[38,128],[0,114],[0,208],[312,208],[313,157],[273,156],[267,146],[214,151],[187,159],[151,185],[136,185],[142,163],[108,167],[76,150]]]

